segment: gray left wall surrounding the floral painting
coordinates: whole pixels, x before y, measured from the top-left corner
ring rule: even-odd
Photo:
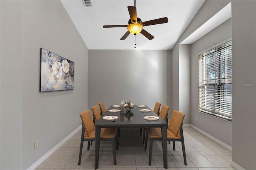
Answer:
[[[27,169],[80,126],[88,49],[60,1],[0,3],[0,169]],[[74,90],[39,92],[40,47],[75,62]]]

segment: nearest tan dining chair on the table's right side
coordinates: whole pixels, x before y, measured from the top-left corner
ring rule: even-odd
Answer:
[[[167,129],[167,140],[172,141],[173,150],[175,150],[175,141],[181,142],[184,164],[187,165],[183,128],[182,128],[184,117],[185,117],[184,113],[181,113],[176,110],[172,111],[172,117]],[[151,165],[153,141],[162,140],[161,128],[146,128],[145,150],[147,150],[148,136],[150,138],[148,165]]]

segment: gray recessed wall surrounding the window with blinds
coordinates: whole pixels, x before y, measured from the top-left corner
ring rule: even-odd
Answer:
[[[231,38],[232,21],[227,20],[191,45],[191,124],[232,146],[232,122],[198,111],[198,51]],[[195,117],[197,116],[197,121]],[[221,132],[221,133],[220,133]]]

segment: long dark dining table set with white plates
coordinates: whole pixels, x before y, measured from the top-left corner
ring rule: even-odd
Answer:
[[[111,105],[95,125],[95,159],[94,168],[98,169],[100,154],[100,129],[116,128],[161,128],[164,168],[167,169],[167,123],[159,117],[151,120],[150,116],[159,117],[147,105],[134,105],[130,112],[121,113],[120,105]],[[106,119],[109,118],[109,119]]]

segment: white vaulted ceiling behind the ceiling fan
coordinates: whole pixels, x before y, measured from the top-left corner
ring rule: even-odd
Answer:
[[[134,49],[132,34],[120,40],[127,28],[103,28],[128,25],[127,6],[134,6],[134,0],[91,0],[90,7],[84,6],[83,0],[61,2],[88,49]],[[138,34],[136,49],[172,49],[203,3],[204,0],[136,0],[137,17],[142,22],[168,18],[166,24],[145,26],[154,39]]]

